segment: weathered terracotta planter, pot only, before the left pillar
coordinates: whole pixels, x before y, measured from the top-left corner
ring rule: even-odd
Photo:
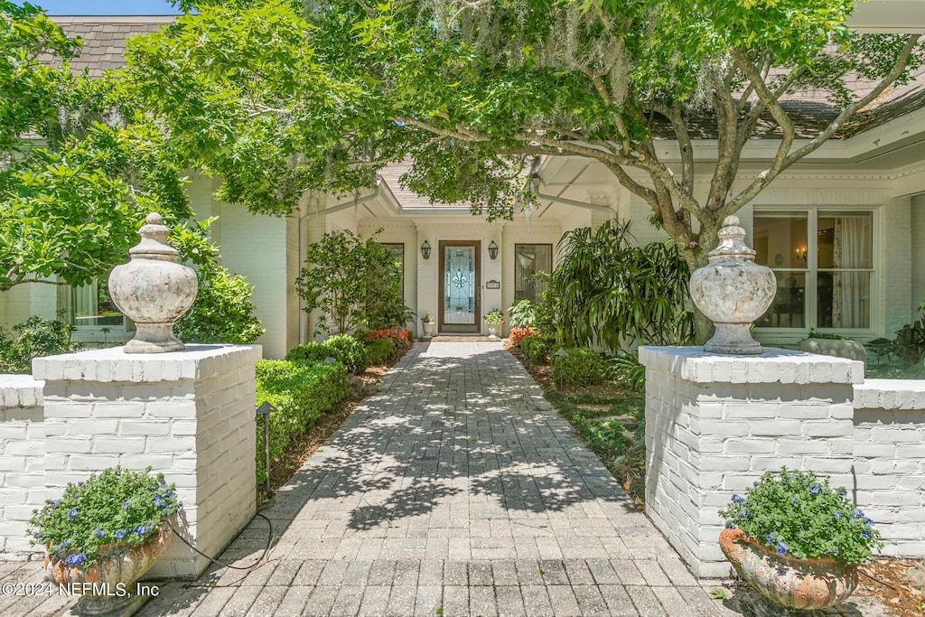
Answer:
[[[162,524],[141,546],[105,545],[101,549],[105,556],[86,568],[70,567],[64,561],[53,561],[48,555],[45,570],[58,585],[81,586],[77,591],[83,592],[78,604],[80,614],[131,614],[129,606],[136,604],[137,610],[148,599],[135,595],[135,581],[151,569],[172,539],[170,526]]]

